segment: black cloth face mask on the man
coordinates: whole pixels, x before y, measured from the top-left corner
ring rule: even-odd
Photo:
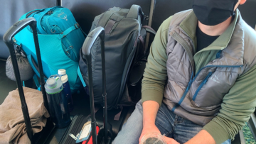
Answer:
[[[193,0],[193,11],[198,20],[207,26],[215,26],[234,16],[238,0]]]

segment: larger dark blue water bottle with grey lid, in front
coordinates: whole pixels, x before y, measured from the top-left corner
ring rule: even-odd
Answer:
[[[63,94],[63,83],[60,79],[60,75],[50,76],[46,81],[45,88],[50,117],[57,128],[64,128],[70,124],[70,113],[67,98]]]

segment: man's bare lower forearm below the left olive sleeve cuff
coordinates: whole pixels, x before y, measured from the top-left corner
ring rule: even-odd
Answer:
[[[144,101],[143,107],[143,126],[146,124],[155,124],[156,114],[159,110],[159,104],[156,101]]]

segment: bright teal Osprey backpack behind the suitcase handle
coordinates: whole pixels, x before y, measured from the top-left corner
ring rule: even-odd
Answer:
[[[76,92],[82,85],[78,77],[79,50],[85,40],[79,24],[69,9],[55,6],[48,9],[36,9],[21,16],[21,19],[33,17],[37,21],[38,40],[45,79],[65,69],[68,74],[71,92]],[[33,71],[40,77],[37,67],[36,49],[33,33],[28,26],[15,35],[14,43],[28,57]],[[35,83],[39,87],[36,75]]]

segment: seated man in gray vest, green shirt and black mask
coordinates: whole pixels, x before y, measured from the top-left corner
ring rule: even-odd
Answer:
[[[144,71],[142,101],[114,144],[146,133],[167,143],[230,143],[256,106],[256,33],[246,0],[193,0],[161,24]],[[167,2],[166,2],[167,3]]]

